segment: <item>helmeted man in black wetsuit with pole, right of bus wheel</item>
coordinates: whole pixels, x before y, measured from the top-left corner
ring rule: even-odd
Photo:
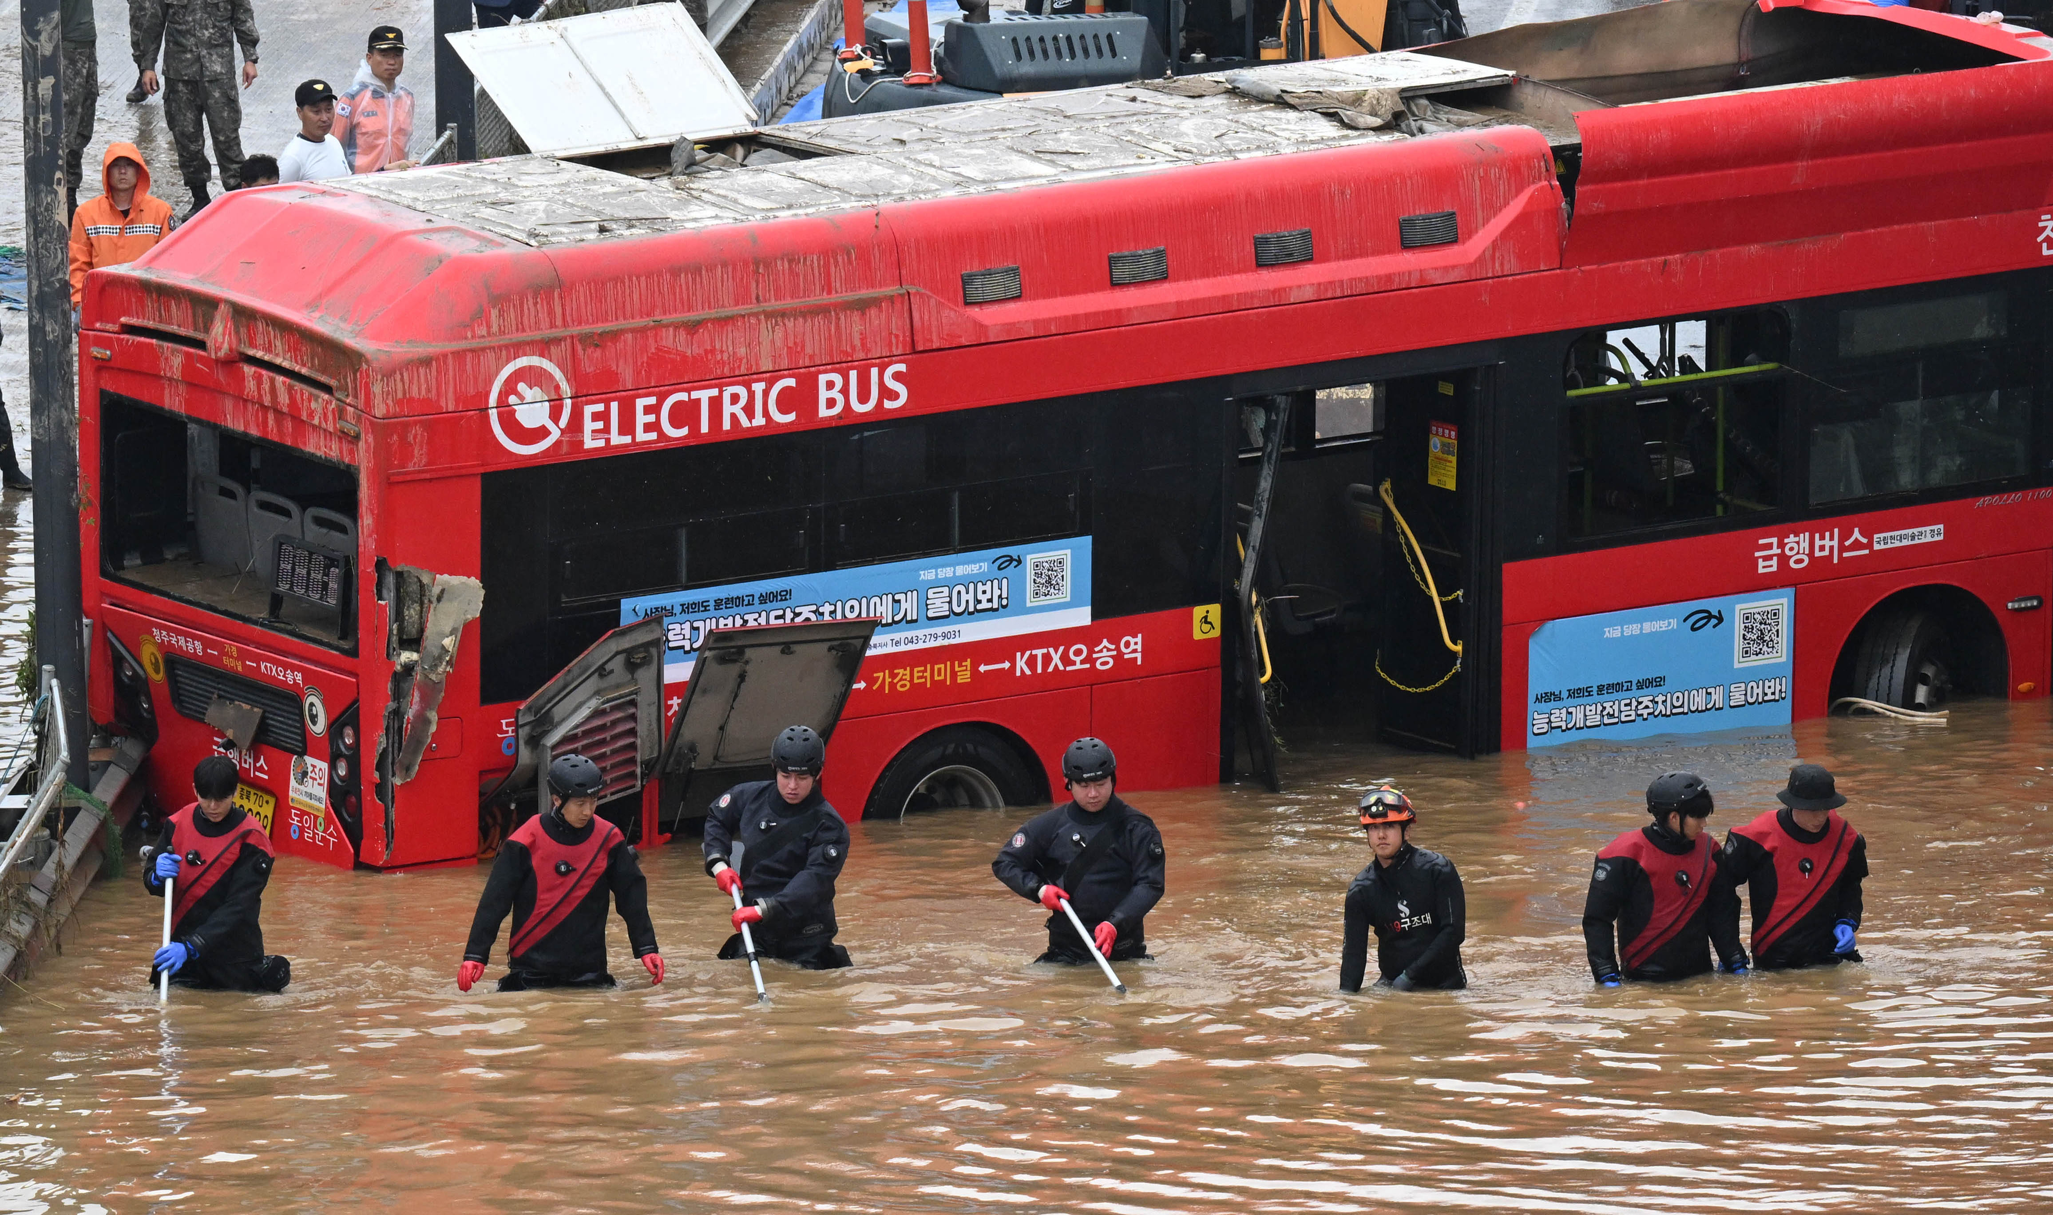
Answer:
[[[1078,739],[1061,755],[1070,802],[1033,819],[998,850],[992,872],[1047,917],[1039,963],[1090,963],[1061,899],[1109,961],[1146,958],[1144,917],[1162,899],[1162,833],[1154,819],[1119,800],[1119,766],[1098,739]]]

